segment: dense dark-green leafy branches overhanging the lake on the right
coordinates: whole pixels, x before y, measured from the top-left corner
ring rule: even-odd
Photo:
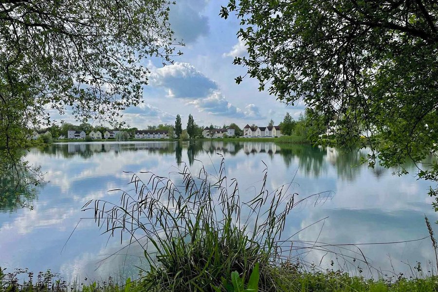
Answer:
[[[420,164],[438,151],[437,1],[229,0],[230,14],[248,52],[234,63],[260,91],[304,102],[330,142],[370,146],[370,166],[406,173],[408,159],[438,181],[436,157]]]

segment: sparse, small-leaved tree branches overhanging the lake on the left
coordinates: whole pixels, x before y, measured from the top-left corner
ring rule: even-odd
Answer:
[[[0,176],[54,113],[115,123],[142,102],[146,57],[170,63],[168,0],[0,3]],[[17,175],[23,173],[15,171]],[[19,179],[18,179],[19,181]]]

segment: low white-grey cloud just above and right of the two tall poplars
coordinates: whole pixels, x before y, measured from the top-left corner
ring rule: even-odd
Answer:
[[[207,98],[192,101],[190,104],[193,104],[198,110],[206,111],[212,115],[234,118],[263,118],[256,105],[250,104],[245,107],[245,110],[241,110],[232,105],[220,91],[214,91]]]

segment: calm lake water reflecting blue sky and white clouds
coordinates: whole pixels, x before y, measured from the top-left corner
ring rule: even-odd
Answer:
[[[270,189],[293,179],[291,191],[300,198],[330,191],[293,209],[285,232],[292,235],[309,226],[292,237],[294,240],[330,244],[412,240],[428,235],[424,214],[432,222],[437,219],[427,196],[429,184],[417,180],[413,166],[407,166],[410,173],[402,177],[392,175],[391,169],[352,167],[366,150],[341,154],[333,148],[219,141],[55,144],[44,150],[34,148],[27,156],[46,173],[47,183],[37,189],[32,202],[34,210],[13,206],[0,210],[0,266],[34,272],[51,269],[67,279],[136,274],[134,265],[146,267],[143,251],[136,246],[122,249],[126,241],[121,244],[120,238],[100,235],[104,230],[93,219],[81,220],[93,216],[81,212],[81,207],[91,199],[117,202],[120,193],[108,191],[130,188],[130,175],[123,171],[168,176],[183,167],[180,161],[193,170],[200,169],[203,162],[214,171],[221,159],[217,153],[225,157],[227,176],[237,179],[246,199],[256,194],[264,164]],[[391,263],[396,272],[410,274],[409,265],[419,261],[425,267],[435,258],[428,239],[358,247],[384,274],[392,271]],[[359,253],[352,246],[331,249],[346,256]],[[323,268],[330,268],[333,261],[352,273],[357,273],[354,266],[359,265],[363,274],[369,274],[363,263],[346,265],[342,256],[326,255],[322,250],[300,257]]]

